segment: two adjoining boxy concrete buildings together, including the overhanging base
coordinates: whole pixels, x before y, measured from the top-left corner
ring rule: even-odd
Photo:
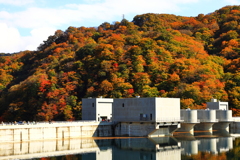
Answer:
[[[111,120],[115,136],[165,136],[180,127],[179,98],[84,98],[83,120]]]

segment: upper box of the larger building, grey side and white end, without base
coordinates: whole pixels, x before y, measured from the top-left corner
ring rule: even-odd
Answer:
[[[180,120],[179,98],[125,98],[113,102],[113,121],[175,120]]]

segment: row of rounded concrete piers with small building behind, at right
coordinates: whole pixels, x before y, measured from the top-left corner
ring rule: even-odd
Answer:
[[[178,131],[189,131],[191,133],[194,130],[229,131],[229,124],[233,121],[233,118],[232,110],[228,109],[228,102],[211,99],[211,102],[207,102],[207,109],[205,110],[181,110],[181,119],[184,121]]]

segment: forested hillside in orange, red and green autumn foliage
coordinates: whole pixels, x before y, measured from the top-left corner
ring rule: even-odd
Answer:
[[[37,51],[1,54],[0,121],[77,120],[81,98],[138,95],[191,109],[214,97],[239,116],[239,51],[240,6],[58,30]]]

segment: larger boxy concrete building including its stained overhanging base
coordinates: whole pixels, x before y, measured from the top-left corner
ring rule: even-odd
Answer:
[[[180,127],[180,99],[114,99],[113,122],[116,136],[172,135]]]

